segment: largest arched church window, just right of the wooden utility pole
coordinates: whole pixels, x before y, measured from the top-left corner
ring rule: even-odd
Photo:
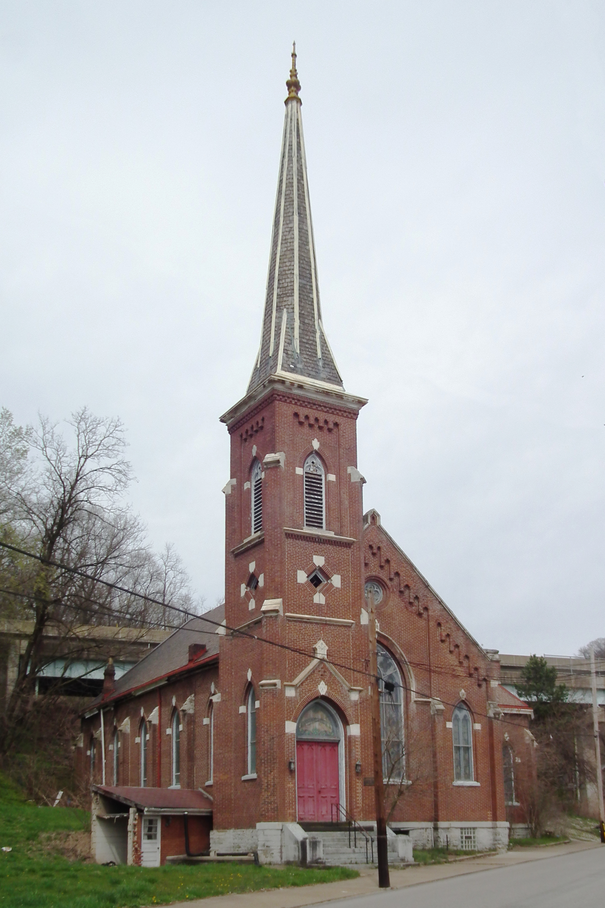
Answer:
[[[405,779],[404,689],[393,656],[380,644],[377,656],[383,775],[389,782],[399,782]]]

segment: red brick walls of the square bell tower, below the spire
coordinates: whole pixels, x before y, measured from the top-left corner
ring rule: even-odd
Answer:
[[[286,697],[284,684],[294,680],[307,666],[312,647],[322,638],[328,655],[347,666],[361,665],[366,652],[366,634],[359,627],[363,598],[360,539],[362,535],[362,497],[359,482],[352,482],[347,471],[356,467],[356,410],[271,393],[252,414],[229,428],[231,435],[231,479],[236,479],[226,496],[226,604],[230,627],[258,619],[251,632],[275,643],[303,651],[302,655],[275,646],[263,645],[241,637],[222,637],[220,641],[220,704],[217,706],[217,749],[220,768],[215,769],[215,828],[254,826],[259,821],[296,820],[296,775],[289,771],[288,760],[295,756],[295,735],[286,735],[286,721],[296,721],[300,709],[318,696],[317,685],[323,678],[344,725],[360,721],[359,705],[352,703],[325,666],[318,669],[298,688],[297,696]],[[285,533],[285,528],[304,525],[302,469],[307,456],[319,446],[317,455],[326,474],[327,529],[334,538],[317,534],[307,538]],[[256,446],[256,453],[253,452]],[[283,467],[265,469],[263,479],[263,533],[259,544],[244,551],[232,549],[250,536],[250,471],[256,457],[284,452]],[[344,539],[343,539],[344,537]],[[324,568],[332,577],[339,575],[340,587],[328,585],[326,604],[315,604],[316,589],[298,583],[298,570],[309,572],[313,556],[325,558]],[[255,606],[249,608],[249,594],[241,596],[241,584],[249,578],[249,565],[264,578],[264,586],[254,594]],[[322,626],[290,621],[286,617],[261,617],[265,599],[282,599],[283,611],[308,616],[345,618],[354,627]],[[257,711],[256,780],[242,781],[246,775],[247,717],[239,713],[245,705],[248,673],[259,700]],[[346,680],[359,686],[355,673],[343,669]],[[262,680],[278,678],[281,688],[263,689]],[[354,766],[358,741],[346,736],[346,785],[356,786]]]

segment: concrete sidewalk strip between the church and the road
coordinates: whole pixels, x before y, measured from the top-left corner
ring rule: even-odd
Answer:
[[[570,842],[549,845],[546,848],[520,848],[503,854],[486,854],[452,864],[413,865],[403,870],[391,869],[391,889],[405,889],[421,883],[432,883],[465,873],[480,873],[496,867],[510,867],[527,864],[529,861],[543,861],[561,854],[574,854],[600,848],[600,842]],[[356,880],[341,880],[338,883],[317,883],[288,889],[265,889],[257,893],[216,895],[209,899],[173,903],[172,908],[302,908],[304,905],[350,899],[356,895],[379,893],[378,872],[375,867],[360,866]]]

